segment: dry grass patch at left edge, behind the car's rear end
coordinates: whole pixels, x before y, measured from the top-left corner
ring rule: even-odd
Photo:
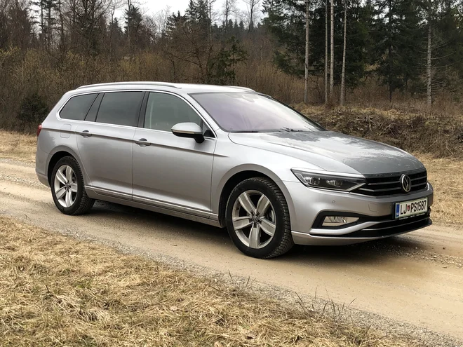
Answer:
[[[33,163],[36,143],[36,137],[33,135],[0,130],[0,157]]]

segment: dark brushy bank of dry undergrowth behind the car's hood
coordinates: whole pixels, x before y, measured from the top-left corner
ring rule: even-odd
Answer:
[[[398,109],[325,109],[304,104],[295,107],[329,130],[384,142],[411,153],[463,160],[462,116],[438,116]]]

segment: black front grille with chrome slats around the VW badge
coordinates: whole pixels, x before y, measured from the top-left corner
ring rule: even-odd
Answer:
[[[410,179],[412,180],[412,189],[408,193],[426,189],[428,182],[426,170],[421,170],[418,172],[405,172],[405,174],[410,176]],[[354,193],[368,196],[389,196],[396,194],[404,195],[406,193],[402,189],[401,176],[402,172],[381,176],[367,175],[365,176],[367,179],[367,184],[361,186],[361,188],[356,189]]]

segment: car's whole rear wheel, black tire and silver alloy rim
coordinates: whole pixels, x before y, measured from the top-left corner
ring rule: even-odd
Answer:
[[[71,156],[65,156],[55,164],[50,186],[56,207],[65,215],[81,215],[95,203],[87,196],[81,168]]]

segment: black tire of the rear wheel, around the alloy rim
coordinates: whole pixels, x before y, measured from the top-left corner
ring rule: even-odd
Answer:
[[[54,188],[56,172],[62,165],[69,165],[72,170],[74,170],[74,175],[76,177],[77,193],[74,203],[72,203],[70,207],[65,207],[60,204],[58,198],[56,197]],[[88,212],[95,203],[94,199],[87,196],[87,192],[85,191],[85,186],[83,184],[82,170],[79,166],[79,163],[77,163],[76,159],[74,159],[72,156],[65,156],[55,164],[55,167],[51,172],[50,186],[51,195],[53,196],[53,201],[55,202],[56,207],[58,207],[58,210],[60,210],[65,215],[83,215],[84,213]]]

